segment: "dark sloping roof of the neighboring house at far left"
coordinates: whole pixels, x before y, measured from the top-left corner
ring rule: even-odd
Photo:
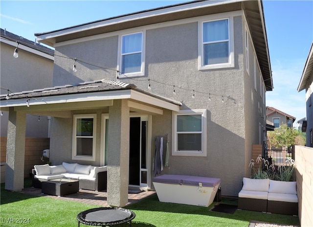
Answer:
[[[54,56],[54,50],[53,49],[50,49],[44,45],[35,43],[34,41],[27,40],[27,39],[23,38],[22,36],[15,35],[15,34],[8,32],[7,30],[4,30],[2,28],[0,28],[0,35],[1,35],[1,38],[7,39],[7,40],[10,40],[13,42],[19,41],[20,45],[24,45],[24,46],[27,46],[29,48],[32,48],[32,49],[41,51],[43,53],[49,54],[51,56]]]

